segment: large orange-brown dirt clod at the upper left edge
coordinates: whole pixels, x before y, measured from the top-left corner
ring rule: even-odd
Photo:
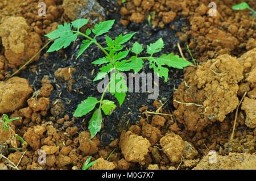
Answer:
[[[0,36],[5,47],[5,57],[11,68],[24,64],[39,51],[42,45],[40,36],[31,32],[23,17],[6,18],[1,24]],[[39,55],[34,60],[38,58]]]

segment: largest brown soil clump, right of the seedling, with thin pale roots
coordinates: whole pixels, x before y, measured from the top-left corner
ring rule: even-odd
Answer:
[[[243,67],[227,54],[185,70],[184,82],[174,95],[174,114],[188,131],[200,132],[238,106],[238,82]]]

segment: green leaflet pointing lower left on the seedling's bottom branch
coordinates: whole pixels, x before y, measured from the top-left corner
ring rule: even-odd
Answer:
[[[74,113],[74,117],[82,117],[86,115],[88,112],[92,111],[96,104],[98,103],[98,100],[94,97],[88,97],[84,101],[82,101],[79,106],[77,106],[77,109]]]

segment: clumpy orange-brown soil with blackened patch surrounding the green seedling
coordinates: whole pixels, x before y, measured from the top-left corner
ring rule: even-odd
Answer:
[[[11,123],[14,132],[0,129],[0,153],[15,166],[20,160],[18,169],[77,170],[90,155],[97,161],[92,170],[256,169],[256,23],[248,11],[230,8],[241,1],[217,0],[217,16],[208,15],[207,0],[46,0],[46,16],[37,15],[38,2],[0,2],[0,113],[20,117]],[[82,40],[56,53],[43,50],[8,79],[47,42],[46,33],[77,18],[92,18],[90,27],[115,19],[109,36],[137,32],[132,41],[144,48],[162,37],[163,53],[180,54],[180,43],[188,59],[189,45],[199,65],[170,69],[168,82],[160,79],[158,100],[127,93],[91,139],[92,115],[72,115],[81,100],[101,95],[92,81],[99,67],[90,64],[103,56],[96,46],[77,60]],[[105,44],[104,37],[97,40]],[[151,72],[148,65],[143,71]],[[15,147],[22,151],[10,150]],[[217,163],[210,164],[210,150]],[[45,163],[39,163],[42,151]],[[0,169],[12,169],[8,164],[0,156]]]

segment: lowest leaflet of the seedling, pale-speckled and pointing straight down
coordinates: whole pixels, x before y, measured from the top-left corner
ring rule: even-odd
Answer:
[[[89,121],[89,129],[90,129],[90,138],[96,136],[96,134],[101,130],[101,122],[102,122],[102,115],[101,109],[98,108],[94,111],[92,118]]]

